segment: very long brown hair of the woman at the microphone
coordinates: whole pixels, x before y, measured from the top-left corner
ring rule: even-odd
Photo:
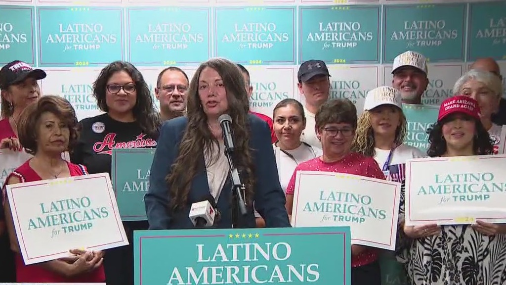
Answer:
[[[198,96],[200,73],[206,67],[215,69],[221,76],[227,91],[228,111],[232,117],[232,130],[235,134],[235,167],[241,171],[242,181],[246,187],[244,200],[251,204],[254,195],[255,169],[249,149],[248,95],[244,89],[244,79],[235,63],[213,58],[200,64],[193,76],[188,89],[187,117],[188,124],[184,132],[179,154],[171,172],[165,177],[170,186],[171,209],[184,208],[188,202],[188,193],[196,173],[202,170],[200,159],[206,148],[213,148],[217,139],[209,130],[207,116],[204,113]]]

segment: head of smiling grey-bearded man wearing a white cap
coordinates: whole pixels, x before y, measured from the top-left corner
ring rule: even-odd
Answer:
[[[425,56],[413,51],[401,53],[394,59],[392,74],[392,86],[400,91],[402,102],[421,104],[421,96],[429,84]]]

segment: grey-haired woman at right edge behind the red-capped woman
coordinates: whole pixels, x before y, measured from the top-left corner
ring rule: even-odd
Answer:
[[[501,126],[492,122],[492,114],[499,105],[502,94],[502,83],[497,75],[480,70],[469,70],[453,86],[453,94],[471,97],[478,101],[480,121],[488,131],[494,154],[499,152]]]

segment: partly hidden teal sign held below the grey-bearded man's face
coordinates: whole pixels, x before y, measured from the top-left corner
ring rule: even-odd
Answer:
[[[429,134],[427,130],[437,122],[439,106],[402,104],[402,112],[406,116],[407,121],[404,144],[426,153],[429,149]]]

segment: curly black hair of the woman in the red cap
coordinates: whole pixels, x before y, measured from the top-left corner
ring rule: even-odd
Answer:
[[[463,115],[468,116],[468,115]],[[436,122],[431,128],[427,130],[429,134],[429,149],[427,155],[430,157],[439,157],[446,153],[446,140],[443,137],[443,125],[451,120],[452,116],[448,116],[441,121]],[[476,123],[476,135],[473,138],[473,153],[474,155],[488,155],[493,154],[492,141],[485,127],[480,120],[468,116]]]

